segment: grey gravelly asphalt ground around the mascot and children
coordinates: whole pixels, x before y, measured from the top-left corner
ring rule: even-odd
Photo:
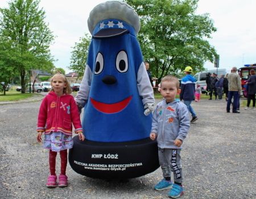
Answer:
[[[256,198],[256,110],[226,113],[225,101],[192,103],[199,120],[183,144],[181,198]],[[128,181],[91,179],[68,165],[67,188],[49,189],[48,151],[36,142],[40,101],[0,105],[0,198],[168,198],[157,169]],[[59,171],[59,156],[56,171]]]

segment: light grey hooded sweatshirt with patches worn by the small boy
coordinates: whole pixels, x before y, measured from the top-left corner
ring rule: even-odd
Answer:
[[[182,148],[174,145],[175,139],[184,140],[190,127],[190,118],[187,106],[175,100],[166,103],[159,102],[153,113],[151,132],[157,135],[159,148]]]

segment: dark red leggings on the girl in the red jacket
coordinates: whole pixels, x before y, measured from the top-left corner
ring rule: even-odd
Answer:
[[[49,150],[49,170],[51,175],[56,175],[55,165],[56,165],[57,152]],[[68,150],[60,151],[60,173],[65,175],[68,163]]]

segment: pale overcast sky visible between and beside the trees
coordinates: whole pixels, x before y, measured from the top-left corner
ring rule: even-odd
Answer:
[[[7,7],[7,0],[0,0],[0,7]],[[98,3],[93,0],[41,0],[40,6],[46,11],[46,22],[56,36],[51,53],[58,61],[57,68],[67,68],[72,47],[85,33],[89,34],[87,19]],[[256,26],[254,0],[200,0],[198,14],[209,13],[217,32],[209,43],[220,55],[220,68],[241,67],[256,63]],[[205,63],[207,69],[214,69],[213,63]]]

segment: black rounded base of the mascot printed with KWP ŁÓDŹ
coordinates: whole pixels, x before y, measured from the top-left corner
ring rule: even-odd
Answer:
[[[73,138],[69,164],[84,176],[97,179],[131,179],[159,167],[158,147],[150,139],[133,142],[100,143]]]

